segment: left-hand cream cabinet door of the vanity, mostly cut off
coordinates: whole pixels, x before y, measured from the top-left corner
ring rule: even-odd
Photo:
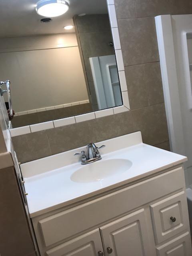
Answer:
[[[102,255],[102,252],[100,232],[96,229],[48,250],[46,254],[48,256],[98,256]]]

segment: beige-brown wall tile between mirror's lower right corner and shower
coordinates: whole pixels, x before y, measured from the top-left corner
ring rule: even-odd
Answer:
[[[134,131],[141,131],[143,142],[156,145],[168,141],[164,103],[132,110]]]

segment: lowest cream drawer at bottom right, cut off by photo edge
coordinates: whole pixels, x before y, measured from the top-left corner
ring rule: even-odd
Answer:
[[[191,256],[189,232],[186,232],[170,242],[157,247],[156,250],[158,256]]]

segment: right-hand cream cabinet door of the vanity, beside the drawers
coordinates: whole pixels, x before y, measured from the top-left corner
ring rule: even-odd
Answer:
[[[110,222],[100,230],[106,256],[151,256],[144,209]]]

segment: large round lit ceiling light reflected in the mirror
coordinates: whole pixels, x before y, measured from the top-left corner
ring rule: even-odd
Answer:
[[[42,0],[36,6],[36,12],[44,17],[60,16],[68,10],[69,4],[64,0]]]

